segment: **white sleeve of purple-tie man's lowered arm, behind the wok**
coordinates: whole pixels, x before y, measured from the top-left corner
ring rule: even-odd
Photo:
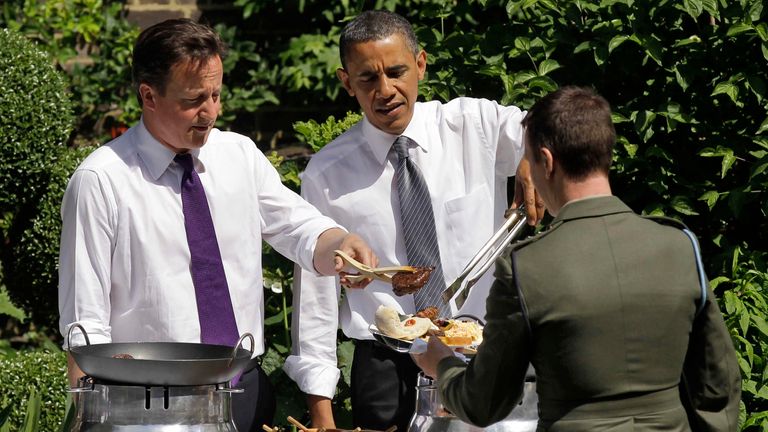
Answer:
[[[111,341],[109,302],[114,200],[110,189],[90,170],[77,170],[69,181],[61,209],[59,251],[59,330],[68,335],[74,323],[90,343]],[[64,349],[85,344],[79,330],[64,338]]]

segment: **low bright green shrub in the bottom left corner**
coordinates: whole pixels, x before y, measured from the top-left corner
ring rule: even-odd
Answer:
[[[40,397],[40,431],[58,431],[67,401],[67,357],[63,351],[18,351],[0,356],[0,411],[10,408],[9,430],[24,430],[28,401]],[[0,425],[2,427],[3,425]]]

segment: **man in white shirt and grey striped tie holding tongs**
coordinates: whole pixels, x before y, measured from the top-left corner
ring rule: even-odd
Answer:
[[[418,264],[409,262],[403,234],[393,150],[400,136],[408,138],[407,158],[429,190],[444,286],[503,223],[509,177],[517,173],[516,195],[525,195],[529,223],[541,219],[543,205],[521,164],[524,112],[484,99],[417,102],[426,53],[408,21],[392,12],[363,12],[347,24],[339,45],[337,76],[365,117],[312,157],[302,195],[365,236],[381,265]],[[485,275],[460,312],[482,318],[491,283],[492,275]],[[374,281],[365,290],[346,290],[339,305],[341,289],[336,278],[296,269],[293,349],[285,370],[308,395],[312,426],[334,428],[331,399],[340,376],[336,331],[341,326],[355,343],[354,426],[405,430],[414,411],[418,368],[407,354],[376,343],[369,325],[382,304],[416,312],[414,296],[398,297],[391,285]]]

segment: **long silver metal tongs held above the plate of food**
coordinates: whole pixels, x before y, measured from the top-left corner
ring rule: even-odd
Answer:
[[[459,277],[443,291],[443,301],[451,308],[451,315],[456,315],[464,306],[472,286],[496,262],[508,244],[516,239],[525,227],[525,207],[520,206],[509,215],[504,225],[480,248],[469,261]]]

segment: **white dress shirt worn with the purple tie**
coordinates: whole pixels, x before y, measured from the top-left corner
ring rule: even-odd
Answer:
[[[245,136],[214,129],[192,154],[238,331],[251,333],[255,355],[261,354],[262,240],[314,271],[318,236],[338,225],[284,187]],[[94,151],[72,176],[62,206],[59,270],[65,348],[75,322],[91,343],[200,342],[181,206],[183,170],[173,157],[140,122]],[[73,331],[72,345],[84,343]]]

